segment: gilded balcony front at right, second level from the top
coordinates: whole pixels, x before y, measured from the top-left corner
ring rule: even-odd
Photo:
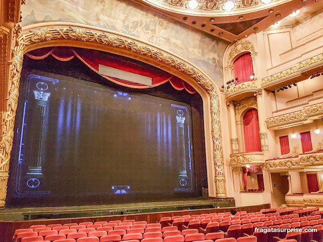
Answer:
[[[284,127],[293,123],[306,122],[310,123],[312,120],[308,119],[312,116],[323,114],[323,103],[313,104],[303,107],[302,110],[282,114],[276,117],[266,119],[266,126],[268,129]]]

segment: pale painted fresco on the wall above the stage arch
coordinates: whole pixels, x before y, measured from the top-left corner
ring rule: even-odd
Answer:
[[[223,85],[228,42],[175,21],[148,7],[122,0],[33,0],[21,7],[22,26],[72,22],[118,31],[176,53]]]

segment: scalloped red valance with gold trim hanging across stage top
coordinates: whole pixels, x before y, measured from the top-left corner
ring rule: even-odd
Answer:
[[[150,88],[156,87],[166,82],[170,82],[176,90],[185,89],[187,92],[196,93],[188,83],[164,72],[158,68],[152,67],[145,63],[134,61],[130,58],[112,55],[106,52],[76,48],[76,47],[47,47],[29,51],[26,55],[32,59],[43,59],[51,55],[62,62],[68,62],[74,57],[80,59],[86,66],[98,74],[99,65],[116,68],[126,72],[139,74],[142,76],[150,77],[152,79],[152,86],[146,86],[134,82],[125,81],[119,78],[100,75],[114,83],[131,88]]]

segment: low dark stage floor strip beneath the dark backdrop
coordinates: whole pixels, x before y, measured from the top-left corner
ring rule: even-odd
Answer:
[[[190,199],[73,207],[4,208],[0,209],[0,221],[112,216],[234,206],[233,199]]]

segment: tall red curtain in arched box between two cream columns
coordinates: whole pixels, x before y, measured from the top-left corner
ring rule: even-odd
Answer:
[[[257,109],[252,108],[244,114],[243,129],[246,152],[261,151]]]

